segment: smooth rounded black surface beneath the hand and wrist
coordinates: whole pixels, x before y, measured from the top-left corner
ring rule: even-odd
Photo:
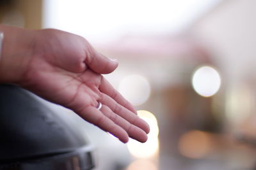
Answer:
[[[0,163],[62,157],[88,143],[58,114],[28,91],[13,85],[0,85]],[[82,155],[89,154],[90,150]],[[45,162],[44,162],[45,163]],[[88,162],[92,166],[92,161]],[[47,164],[47,162],[45,163]]]

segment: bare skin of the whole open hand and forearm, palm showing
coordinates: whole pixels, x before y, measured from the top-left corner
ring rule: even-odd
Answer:
[[[102,76],[116,69],[117,60],[96,52],[81,36],[56,29],[0,25],[0,31],[4,32],[0,83],[19,85],[70,108],[123,143],[129,137],[147,141],[148,124]]]

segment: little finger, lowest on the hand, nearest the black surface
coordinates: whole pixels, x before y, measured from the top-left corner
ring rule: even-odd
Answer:
[[[116,125],[108,117],[103,115],[100,110],[97,110],[97,108],[88,106],[77,114],[84,118],[84,120],[97,125],[100,127],[100,129],[113,134],[113,136],[116,136],[116,138],[118,138],[123,143],[127,143],[129,140],[127,132],[119,125]]]

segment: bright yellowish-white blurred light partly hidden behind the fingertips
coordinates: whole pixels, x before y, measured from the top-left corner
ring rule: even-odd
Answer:
[[[156,117],[149,111],[139,110],[138,116],[145,120],[150,126],[150,133],[148,134],[148,140],[146,143],[139,143],[131,139],[127,143],[129,152],[137,158],[149,158],[154,157],[159,152],[159,127]]]

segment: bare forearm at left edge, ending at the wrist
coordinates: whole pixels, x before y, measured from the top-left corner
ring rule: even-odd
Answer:
[[[0,58],[0,83],[18,83],[33,56],[35,31],[0,25],[4,34]]]

